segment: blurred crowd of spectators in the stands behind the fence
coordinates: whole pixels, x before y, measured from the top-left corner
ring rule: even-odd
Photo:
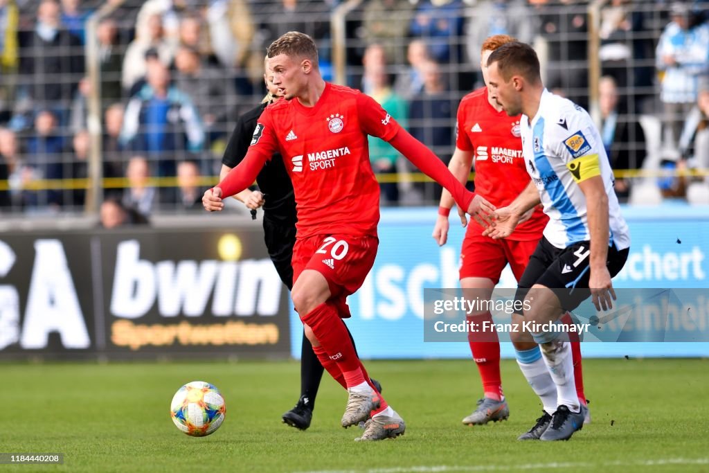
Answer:
[[[102,179],[109,221],[199,210],[236,118],[265,92],[272,40],[308,33],[323,75],[335,79],[339,4],[0,0],[0,212],[84,211],[87,178]],[[509,34],[535,46],[549,89],[597,106],[608,157],[623,171],[620,196],[640,180],[633,170],[708,169],[709,4],[606,0],[598,28],[588,9],[574,0],[363,0],[346,17],[342,79],[447,162],[457,104],[483,85],[481,44]],[[601,80],[589,84],[596,59]],[[440,189],[393,148],[370,144],[384,204],[437,199]],[[675,174],[646,184],[684,196],[703,183]]]

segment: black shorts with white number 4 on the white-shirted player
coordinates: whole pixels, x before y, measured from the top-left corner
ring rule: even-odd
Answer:
[[[540,240],[532,253],[530,262],[522,274],[515,293],[515,301],[521,304],[530,288],[542,284],[559,297],[562,308],[572,311],[591,296],[588,279],[591,277],[591,242],[581,241],[566,248],[557,248],[546,238]],[[610,277],[620,272],[627,260],[630,248],[618,250],[615,245],[608,247],[606,266]]]

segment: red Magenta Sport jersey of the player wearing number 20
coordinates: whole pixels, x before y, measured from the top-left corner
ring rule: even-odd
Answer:
[[[379,184],[367,135],[391,140],[400,126],[371,97],[325,83],[313,107],[279,100],[260,116],[251,150],[279,151],[296,197],[298,238],[342,233],[376,236]]]

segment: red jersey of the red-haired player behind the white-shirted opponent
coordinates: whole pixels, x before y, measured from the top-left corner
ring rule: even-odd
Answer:
[[[463,97],[458,106],[456,147],[472,151],[475,192],[500,208],[508,206],[530,183],[520,139],[520,116],[497,111],[488,101],[486,87]],[[521,223],[509,240],[536,240],[549,218],[540,207]],[[482,233],[482,228],[475,223]]]

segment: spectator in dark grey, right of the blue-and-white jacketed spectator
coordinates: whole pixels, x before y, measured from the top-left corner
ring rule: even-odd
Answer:
[[[234,115],[234,107],[230,104],[236,96],[232,82],[225,80],[225,72],[203,61],[199,52],[188,46],[179,48],[175,66],[175,85],[177,89],[189,92],[211,139],[225,135],[227,121]]]

